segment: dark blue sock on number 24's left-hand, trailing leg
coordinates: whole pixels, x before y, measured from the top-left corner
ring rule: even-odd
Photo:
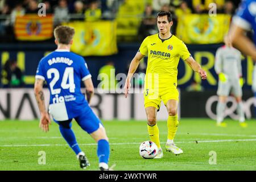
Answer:
[[[63,125],[63,123],[59,122],[59,128],[60,128],[60,133],[63,136],[63,138],[67,141],[67,143],[69,144],[69,147],[72,148],[72,150],[77,154],[79,154],[79,152],[81,152],[81,149],[79,147],[79,145],[76,142],[76,137],[75,134],[73,133],[72,129],[71,129],[71,122],[67,124]]]

